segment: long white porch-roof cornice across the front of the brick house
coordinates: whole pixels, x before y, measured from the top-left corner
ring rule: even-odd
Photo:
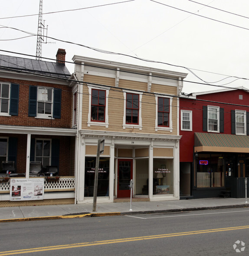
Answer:
[[[0,133],[75,136],[77,129],[0,125]]]

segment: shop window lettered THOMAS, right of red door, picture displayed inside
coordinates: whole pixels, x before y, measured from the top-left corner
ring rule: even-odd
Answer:
[[[153,159],[153,194],[174,194],[173,159]]]

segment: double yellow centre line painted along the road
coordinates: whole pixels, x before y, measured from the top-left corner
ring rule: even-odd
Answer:
[[[59,249],[70,249],[70,248],[85,247],[85,246],[106,245],[106,244],[112,244],[112,243],[134,242],[134,241],[158,239],[158,238],[166,238],[166,237],[174,237],[174,236],[188,236],[188,235],[197,235],[197,234],[205,234],[205,233],[212,233],[212,232],[224,232],[224,231],[232,231],[232,230],[238,230],[238,229],[249,229],[249,226],[228,227],[228,228],[220,228],[220,229],[206,229],[206,230],[179,232],[179,233],[162,234],[162,235],[154,235],[154,236],[138,236],[138,237],[128,237],[128,238],[111,239],[111,240],[104,240],[104,241],[73,243],[73,244],[67,244],[67,245],[46,246],[46,247],[37,247],[37,248],[30,248],[30,249],[20,249],[20,250],[0,252],[0,256],[14,255],[14,254],[20,254],[20,253],[36,253],[36,252],[59,250]]]

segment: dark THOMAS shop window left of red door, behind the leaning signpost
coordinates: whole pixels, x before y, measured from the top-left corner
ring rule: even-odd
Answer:
[[[97,196],[109,196],[109,158],[100,158]],[[92,197],[95,179],[95,157],[85,158],[85,197]]]

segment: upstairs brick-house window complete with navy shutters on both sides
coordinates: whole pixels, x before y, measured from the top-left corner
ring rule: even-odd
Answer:
[[[29,116],[61,118],[62,90],[29,86]]]

